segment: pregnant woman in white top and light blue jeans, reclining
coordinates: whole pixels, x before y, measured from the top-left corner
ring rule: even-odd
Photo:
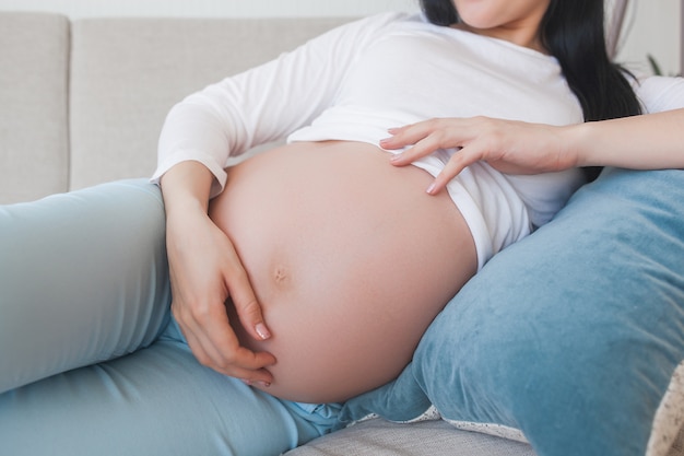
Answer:
[[[582,129],[640,112],[602,2],[422,3],[179,103],[164,203],[123,182],[0,209],[0,453],[276,455],[330,432],[576,166],[676,144],[657,126],[681,113]]]

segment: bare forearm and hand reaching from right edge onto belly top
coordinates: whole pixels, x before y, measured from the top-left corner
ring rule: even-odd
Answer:
[[[684,168],[684,109],[567,126],[487,117],[429,119],[390,130],[380,143],[403,149],[391,163],[405,166],[441,148],[461,148],[428,186],[436,195],[467,166],[483,161],[507,174],[538,174],[576,166]],[[646,151],[646,152],[645,152]]]

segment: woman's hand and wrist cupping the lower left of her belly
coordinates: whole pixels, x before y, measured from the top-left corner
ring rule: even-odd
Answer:
[[[172,311],[200,363],[247,383],[269,385],[273,377],[267,367],[275,358],[241,347],[228,321],[231,297],[247,332],[258,340],[270,337],[233,244],[207,214],[208,178],[211,185],[213,176],[196,162],[176,165],[163,177]]]

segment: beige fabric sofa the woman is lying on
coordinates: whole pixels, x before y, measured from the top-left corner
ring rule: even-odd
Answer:
[[[349,19],[90,19],[0,12],[0,203],[149,176],[184,95]],[[680,442],[671,455],[684,455]],[[534,455],[443,421],[369,420],[288,453]]]

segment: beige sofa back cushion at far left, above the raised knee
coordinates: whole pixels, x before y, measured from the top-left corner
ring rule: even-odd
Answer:
[[[69,21],[0,13],[0,203],[66,191]]]

